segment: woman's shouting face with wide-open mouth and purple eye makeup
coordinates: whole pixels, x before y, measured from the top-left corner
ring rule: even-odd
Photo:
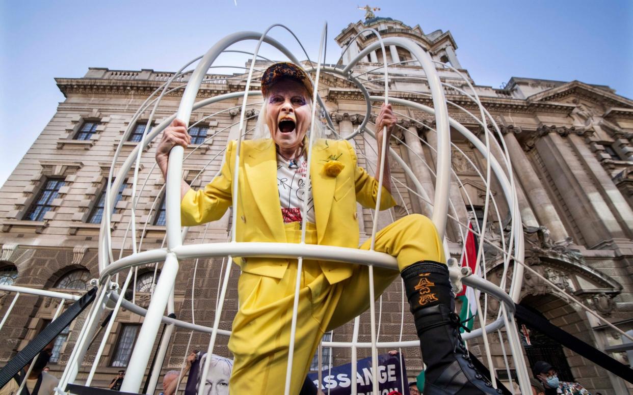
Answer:
[[[311,111],[306,88],[294,80],[280,80],[266,97],[266,126],[280,148],[297,148],[310,128]]]

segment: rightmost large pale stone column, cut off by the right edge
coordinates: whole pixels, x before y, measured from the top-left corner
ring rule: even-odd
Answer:
[[[587,147],[583,137],[576,133],[570,133],[568,138],[572,149],[584,165],[585,174],[592,179],[594,185],[600,190],[601,195],[605,197],[606,204],[609,205],[611,212],[620,222],[620,226],[627,234],[627,238],[633,238],[633,210],[613,183],[610,174],[606,172],[605,168],[596,159],[596,155]]]

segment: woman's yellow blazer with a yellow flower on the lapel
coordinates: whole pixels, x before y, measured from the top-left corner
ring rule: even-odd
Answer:
[[[183,226],[216,221],[230,207],[235,148],[235,140],[229,142],[222,171],[211,183],[203,190],[189,190],[182,198]],[[330,155],[345,166],[335,177],[323,172]],[[358,248],[356,202],[373,209],[378,181],[356,162],[356,153],[346,140],[318,140],[313,146],[310,178],[319,245]],[[287,243],[277,187],[277,154],[272,139],[242,141],[238,181],[236,241]],[[380,210],[396,205],[384,188],[380,200]],[[287,259],[275,258],[249,257],[236,261],[244,272],[279,279],[284,277],[289,264]],[[353,270],[349,264],[334,262],[323,262],[321,267],[330,284],[350,277]]]

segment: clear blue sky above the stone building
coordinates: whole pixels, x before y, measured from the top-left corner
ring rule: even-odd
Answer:
[[[0,0],[0,185],[64,100],[54,77],[83,76],[91,66],[173,71],[228,33],[272,23],[291,28],[316,58],[327,21],[326,61],[334,62],[340,49],[333,38],[363,19],[356,6],[368,0],[235,1]],[[378,16],[419,24],[425,33],[450,30],[461,65],[479,85],[499,87],[511,76],[580,80],[633,97],[630,0],[369,4],[382,8]],[[299,54],[288,33],[272,35]]]

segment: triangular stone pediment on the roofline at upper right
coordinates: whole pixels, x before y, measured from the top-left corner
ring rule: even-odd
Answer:
[[[563,104],[568,102],[570,97],[585,99],[589,102],[599,104],[599,106],[622,107],[633,109],[633,100],[627,99],[614,93],[613,90],[598,88],[580,81],[572,81],[549,88],[537,94],[527,97],[530,103],[548,102]]]

